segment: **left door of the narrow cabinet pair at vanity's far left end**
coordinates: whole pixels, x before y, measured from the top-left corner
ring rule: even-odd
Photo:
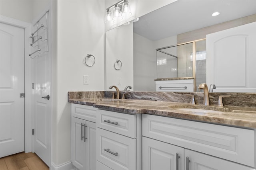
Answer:
[[[72,117],[72,163],[79,170],[85,170],[86,147],[83,138],[85,123],[83,119]]]

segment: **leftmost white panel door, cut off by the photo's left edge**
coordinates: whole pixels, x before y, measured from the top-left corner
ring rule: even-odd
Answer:
[[[0,23],[0,157],[24,151],[24,35]]]

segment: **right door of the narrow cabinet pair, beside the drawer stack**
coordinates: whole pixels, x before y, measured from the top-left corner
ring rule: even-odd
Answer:
[[[96,123],[86,121],[86,170],[96,170]]]

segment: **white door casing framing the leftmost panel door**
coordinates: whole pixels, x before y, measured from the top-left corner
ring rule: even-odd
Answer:
[[[30,48],[27,46],[29,42],[29,34],[31,32],[31,23],[16,20],[6,16],[0,15],[0,22],[13,25],[16,27],[24,28],[25,30],[25,152],[32,151],[32,112],[31,112],[31,63],[28,59],[28,54],[30,53]]]

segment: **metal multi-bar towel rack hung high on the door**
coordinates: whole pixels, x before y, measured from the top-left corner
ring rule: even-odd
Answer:
[[[32,43],[30,43],[30,46],[33,48],[37,47],[38,49],[29,54],[31,59],[41,57],[44,53],[48,52],[48,12],[49,10],[34,24],[35,31],[31,33]],[[46,42],[44,43],[44,41]]]

